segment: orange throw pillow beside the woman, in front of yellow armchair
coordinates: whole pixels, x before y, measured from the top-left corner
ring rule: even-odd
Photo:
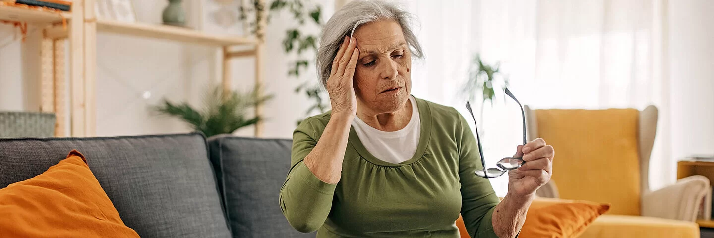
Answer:
[[[528,207],[526,222],[518,237],[578,237],[609,209],[609,204],[538,197]],[[462,238],[471,238],[461,215],[456,220],[456,226]]]

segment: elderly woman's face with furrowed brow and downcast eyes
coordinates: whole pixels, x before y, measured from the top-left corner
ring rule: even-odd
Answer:
[[[411,53],[401,26],[375,21],[358,27],[353,37],[359,49],[354,74],[358,101],[372,113],[397,111],[411,92]]]

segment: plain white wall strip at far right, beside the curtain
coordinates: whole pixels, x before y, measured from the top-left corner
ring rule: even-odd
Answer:
[[[668,6],[672,156],[714,154],[714,1]]]

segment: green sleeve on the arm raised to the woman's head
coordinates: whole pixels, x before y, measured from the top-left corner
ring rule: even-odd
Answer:
[[[288,223],[300,232],[322,227],[332,207],[336,185],[322,182],[303,162],[315,148],[318,129],[306,119],[293,132],[291,168],[280,190],[280,205]]]

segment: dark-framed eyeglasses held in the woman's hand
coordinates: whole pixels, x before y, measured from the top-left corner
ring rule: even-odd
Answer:
[[[516,96],[513,96],[511,90],[508,90],[508,88],[506,88],[506,94],[508,94],[508,96],[511,96],[513,100],[516,100],[518,106],[521,107],[521,116],[523,118],[523,145],[526,145],[526,112],[523,111],[523,105],[521,105],[521,102],[516,99]],[[473,119],[473,126],[476,127],[478,154],[481,155],[481,164],[483,165],[482,170],[476,170],[476,172],[474,172],[476,175],[484,178],[495,178],[505,174],[508,170],[518,169],[518,167],[521,167],[523,164],[526,163],[526,161],[523,160],[523,157],[505,157],[496,162],[496,167],[486,169],[486,159],[483,158],[483,148],[481,147],[481,138],[478,137],[478,126],[476,125],[476,117],[473,116],[473,111],[471,110],[471,105],[468,104],[468,101],[466,101],[466,109],[468,109],[468,113],[471,114],[471,118]]]

